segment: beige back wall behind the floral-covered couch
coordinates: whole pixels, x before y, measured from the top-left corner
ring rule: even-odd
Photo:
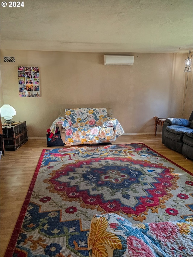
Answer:
[[[154,116],[181,118],[185,54],[131,53],[132,66],[106,66],[104,54],[2,50],[3,100],[17,112],[13,120],[26,121],[29,137],[42,137],[60,108],[112,107],[125,133],[153,133]],[[19,97],[18,65],[40,67],[40,98]],[[193,109],[192,98],[188,92],[184,115]]]

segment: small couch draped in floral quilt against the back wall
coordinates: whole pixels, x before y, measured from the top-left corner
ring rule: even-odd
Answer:
[[[61,109],[51,125],[55,134],[59,127],[65,146],[110,143],[124,133],[118,120],[112,117],[111,108]],[[109,113],[108,113],[109,112]]]

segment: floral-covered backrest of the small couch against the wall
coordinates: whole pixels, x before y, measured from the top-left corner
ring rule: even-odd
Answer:
[[[65,109],[65,116],[73,127],[100,126],[108,119],[106,108]]]

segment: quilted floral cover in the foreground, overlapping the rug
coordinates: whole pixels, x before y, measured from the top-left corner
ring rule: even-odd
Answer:
[[[117,214],[95,215],[88,236],[89,256],[193,256],[193,218],[131,224]]]

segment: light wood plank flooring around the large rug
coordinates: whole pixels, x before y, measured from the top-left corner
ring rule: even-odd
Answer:
[[[193,161],[164,146],[160,134],[120,136],[115,144],[137,142],[146,144],[193,173]],[[0,256],[5,255],[40,154],[46,148],[52,148],[47,147],[46,139],[28,140],[16,151],[6,151],[0,160]]]

